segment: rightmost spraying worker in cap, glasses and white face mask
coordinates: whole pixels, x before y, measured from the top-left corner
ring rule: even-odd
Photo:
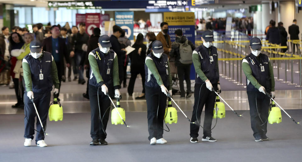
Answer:
[[[250,40],[251,54],[242,60],[242,70],[246,76],[246,91],[249,100],[251,127],[256,142],[269,140],[266,136],[267,118],[271,94],[275,98],[275,79],[270,58],[261,53],[259,38]]]

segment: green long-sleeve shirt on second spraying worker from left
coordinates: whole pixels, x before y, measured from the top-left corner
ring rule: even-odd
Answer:
[[[105,54],[107,55],[107,54]],[[88,60],[90,64],[90,68],[97,79],[97,82],[100,85],[104,84],[104,80],[100,74],[100,70],[98,69],[98,62],[92,52],[89,53],[88,55]],[[113,80],[113,86],[119,86],[120,85],[120,78],[119,78],[119,63],[117,60],[117,55],[114,53],[114,58],[113,58],[113,69],[112,69],[112,80]],[[116,88],[115,88],[116,89]]]

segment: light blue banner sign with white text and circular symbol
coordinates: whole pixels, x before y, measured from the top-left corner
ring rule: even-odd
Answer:
[[[125,36],[133,40],[133,11],[130,12],[117,12],[115,11],[115,24],[125,30]]]

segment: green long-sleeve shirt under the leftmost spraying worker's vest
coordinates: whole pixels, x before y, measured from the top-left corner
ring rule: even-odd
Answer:
[[[43,57],[43,55],[40,56],[38,60],[41,60],[41,57]],[[29,67],[28,62],[25,59],[23,59],[22,61],[22,67],[26,91],[32,91],[31,68]],[[53,57],[51,64],[51,76],[53,79],[54,87],[59,89],[58,70],[56,63],[53,61]]]

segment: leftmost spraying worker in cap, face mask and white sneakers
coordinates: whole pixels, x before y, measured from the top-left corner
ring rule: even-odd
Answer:
[[[22,60],[23,77],[25,81],[26,92],[24,94],[24,112],[25,112],[25,133],[24,146],[31,146],[31,140],[35,134],[36,111],[31,100],[36,104],[42,124],[46,127],[48,116],[51,90],[54,84],[54,94],[59,93],[59,79],[56,63],[51,53],[42,51],[42,45],[39,41],[33,40],[29,45],[30,54]],[[36,144],[40,147],[46,147],[44,142],[44,133],[40,122],[36,123]]]

